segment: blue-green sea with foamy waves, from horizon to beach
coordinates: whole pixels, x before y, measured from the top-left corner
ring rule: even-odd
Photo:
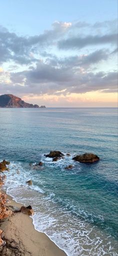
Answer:
[[[44,156],[53,150],[64,159]],[[72,160],[83,153],[100,160]],[[68,256],[118,255],[116,108],[0,108],[3,159],[10,161],[4,189],[32,206],[36,230]]]

